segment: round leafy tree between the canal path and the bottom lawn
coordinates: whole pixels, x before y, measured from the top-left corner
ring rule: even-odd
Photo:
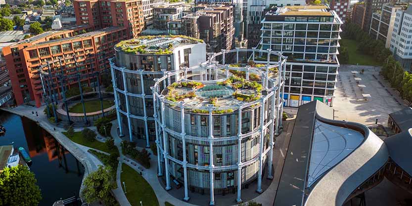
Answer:
[[[110,191],[116,188],[116,184],[111,175],[111,167],[102,167],[89,174],[84,181],[83,197],[88,203],[99,200],[105,201],[109,198]]]

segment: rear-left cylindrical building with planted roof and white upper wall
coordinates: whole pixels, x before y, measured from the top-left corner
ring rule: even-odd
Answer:
[[[184,36],[143,36],[121,41],[110,59],[120,133],[130,141],[156,139],[153,118],[153,80],[165,73],[199,65],[206,60],[206,45]],[[171,81],[180,80],[175,76]]]

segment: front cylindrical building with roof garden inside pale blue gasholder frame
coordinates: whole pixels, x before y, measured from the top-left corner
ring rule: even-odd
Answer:
[[[239,52],[277,56],[278,63],[250,66],[241,63]],[[233,64],[227,64],[228,59]],[[158,171],[166,174],[166,190],[172,176],[184,185],[184,200],[189,199],[188,190],[206,193],[210,205],[215,193],[235,190],[241,202],[242,187],[256,179],[256,191],[262,192],[265,162],[272,176],[285,62],[270,50],[223,50],[199,66],[167,72],[156,80],[156,143],[158,154],[163,154],[158,155]],[[182,78],[171,83],[175,76]]]

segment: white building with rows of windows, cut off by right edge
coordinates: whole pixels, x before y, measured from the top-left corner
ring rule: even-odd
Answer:
[[[412,6],[398,9],[392,32],[391,46],[393,56],[406,71],[412,71]]]

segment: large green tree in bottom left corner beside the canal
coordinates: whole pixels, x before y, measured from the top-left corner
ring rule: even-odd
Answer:
[[[37,206],[42,195],[36,178],[26,166],[4,168],[0,173],[1,206]]]

